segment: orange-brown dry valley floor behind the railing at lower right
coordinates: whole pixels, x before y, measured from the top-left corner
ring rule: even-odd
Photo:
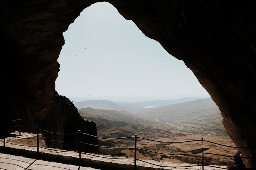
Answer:
[[[235,146],[233,141],[228,136],[215,136],[215,135],[207,135],[207,134],[191,134],[191,135],[176,137],[174,139],[162,138],[157,140],[177,142],[177,141],[187,141],[187,140],[201,140],[202,137],[203,137],[203,140],[209,140],[212,142],[216,142],[216,143],[220,143],[228,146]],[[132,146],[129,146],[129,147],[132,147]],[[137,148],[153,150],[160,153],[170,153],[170,154],[195,153],[195,152],[201,152],[201,149],[202,149],[201,141],[187,142],[187,143],[161,143],[156,141],[147,141],[144,139],[138,140]],[[203,142],[203,148],[204,148],[204,152],[221,154],[221,155],[233,156],[237,152],[237,149],[235,148],[219,146],[206,141]],[[133,150],[125,149],[125,150],[122,150],[121,152],[125,153],[128,157],[134,157]],[[143,153],[143,151],[141,153],[139,150],[137,150],[137,158],[144,159],[144,160],[154,159],[154,160],[168,161],[171,163],[201,164],[202,162],[202,154],[193,154],[188,156],[183,156],[183,155],[173,156],[168,154],[154,154],[154,153],[151,154],[150,152]],[[232,166],[234,164],[234,161],[232,160],[232,158],[229,158],[229,157],[204,154],[204,163]]]

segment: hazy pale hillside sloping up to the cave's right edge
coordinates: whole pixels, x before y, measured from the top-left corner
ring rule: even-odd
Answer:
[[[145,108],[137,114],[190,133],[227,135],[221,112],[211,98]]]

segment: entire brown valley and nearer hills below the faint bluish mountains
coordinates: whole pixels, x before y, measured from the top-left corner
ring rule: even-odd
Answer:
[[[204,140],[235,146],[227,135],[223,124],[219,123],[222,117],[211,98],[168,106],[141,108],[141,111],[138,111],[141,116],[126,111],[93,109],[90,107],[79,109],[79,113],[83,118],[96,122],[97,133],[100,137],[127,137],[137,134],[138,137],[168,142],[201,140],[203,137]],[[146,118],[146,116],[150,118]],[[128,140],[99,139],[98,142],[102,146],[134,147],[133,138]],[[201,141],[163,143],[138,138],[137,147],[160,153],[195,153],[201,152]],[[134,157],[134,150],[132,149],[99,148],[99,151],[101,154]],[[234,156],[238,150],[204,142],[204,151]],[[172,163],[201,164],[201,154],[174,156],[137,150],[137,158]],[[205,164],[234,166],[234,161],[229,157],[205,154],[204,160]]]

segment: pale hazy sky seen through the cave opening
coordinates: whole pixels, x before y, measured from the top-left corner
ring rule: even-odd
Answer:
[[[183,61],[109,3],[86,8],[63,36],[60,95],[128,102],[209,97]]]

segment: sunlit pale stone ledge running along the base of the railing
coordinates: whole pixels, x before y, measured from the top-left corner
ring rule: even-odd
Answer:
[[[9,143],[8,143],[9,144]],[[10,144],[11,145],[11,144]],[[31,147],[32,148],[32,147]],[[38,158],[47,161],[53,161],[58,163],[65,163],[65,164],[72,164],[72,165],[79,165],[79,153],[70,154],[67,152],[59,152],[57,149],[56,151],[52,152],[44,152],[46,149],[39,149],[39,155],[37,155],[37,148],[33,147],[33,150],[21,149],[21,148],[12,148],[12,147],[3,147],[0,146],[0,152],[17,155],[17,156],[25,156],[29,158]],[[95,156],[92,156],[95,155]],[[81,166],[90,166],[96,169],[122,169],[122,170],[130,170],[134,168],[134,161],[131,159],[108,159],[108,158],[101,158],[96,156],[102,156],[97,154],[81,154]],[[112,157],[109,155],[104,155],[103,157],[111,157],[111,158],[122,158],[122,157]],[[189,166],[192,164],[173,164],[170,162],[161,162],[155,160],[147,160],[147,162],[158,164],[158,165],[166,165],[166,166]],[[156,169],[173,169],[173,170],[181,170],[181,169],[188,169],[188,168],[168,168],[168,167],[160,167],[151,164],[147,164],[144,162],[140,162],[137,160],[136,162],[137,170],[156,170]],[[226,168],[226,166],[218,166],[222,168]],[[191,170],[199,170],[201,169],[201,165],[197,167],[190,167]],[[204,167],[205,170],[207,169],[221,169],[221,168],[212,168],[212,167]]]

